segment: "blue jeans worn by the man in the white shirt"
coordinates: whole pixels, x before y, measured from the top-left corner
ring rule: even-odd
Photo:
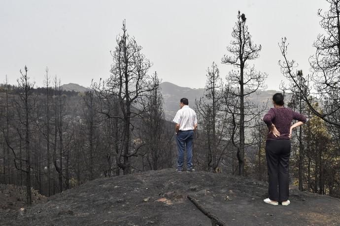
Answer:
[[[184,161],[184,149],[187,148],[187,169],[193,167],[193,139],[194,130],[178,131],[177,133],[177,147],[178,147],[178,160],[177,168],[182,170]]]

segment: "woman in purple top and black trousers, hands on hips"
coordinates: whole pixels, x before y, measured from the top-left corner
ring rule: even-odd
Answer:
[[[269,197],[264,201],[272,205],[278,205],[278,202],[281,202],[286,206],[290,203],[288,171],[292,129],[306,123],[306,117],[284,107],[283,95],[280,93],[274,94],[272,102],[274,107],[263,118],[269,128],[266,141]],[[297,122],[292,125],[293,120]]]

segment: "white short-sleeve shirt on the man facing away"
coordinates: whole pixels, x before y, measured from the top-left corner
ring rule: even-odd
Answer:
[[[184,105],[177,111],[176,116],[172,121],[179,124],[179,130],[193,130],[194,125],[197,124],[196,112],[188,105]]]

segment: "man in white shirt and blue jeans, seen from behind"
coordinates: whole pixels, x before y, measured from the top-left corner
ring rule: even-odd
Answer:
[[[192,162],[192,147],[194,139],[194,130],[197,129],[197,116],[196,112],[189,106],[187,98],[181,98],[179,107],[175,118],[172,120],[175,125],[175,131],[177,134],[177,146],[178,146],[178,160],[177,160],[177,171],[182,172],[183,161],[184,161],[184,149],[187,148],[187,171],[193,172]]]

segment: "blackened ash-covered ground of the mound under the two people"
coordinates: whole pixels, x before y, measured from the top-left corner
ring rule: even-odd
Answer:
[[[34,204],[0,210],[0,225],[209,226],[194,197],[226,225],[340,225],[340,199],[290,191],[291,204],[273,206],[267,183],[208,172],[147,171],[102,178]]]

